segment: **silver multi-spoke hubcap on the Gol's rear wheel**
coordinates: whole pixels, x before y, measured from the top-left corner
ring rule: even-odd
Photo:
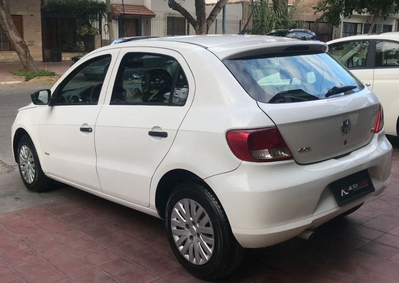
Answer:
[[[198,265],[209,261],[215,240],[202,206],[188,198],[180,200],[173,208],[170,223],[176,246],[188,261]]]

